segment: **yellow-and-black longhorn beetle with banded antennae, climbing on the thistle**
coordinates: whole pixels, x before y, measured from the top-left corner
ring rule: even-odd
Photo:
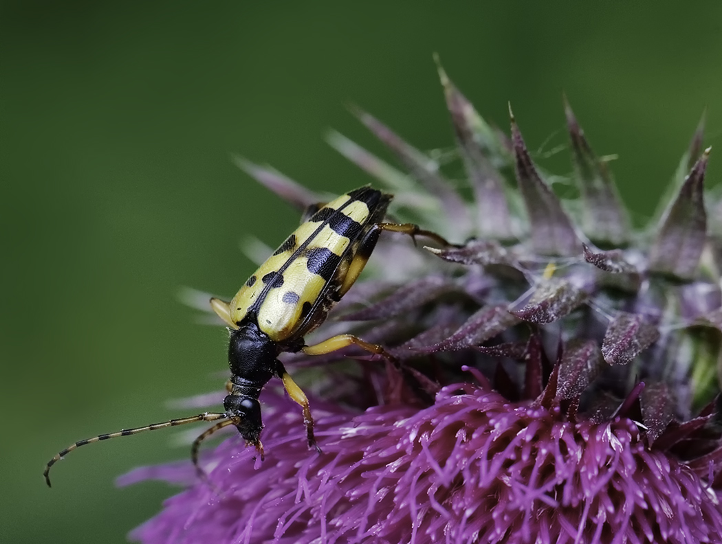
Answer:
[[[391,198],[390,194],[365,186],[329,203],[310,206],[300,226],[248,278],[230,302],[211,299],[212,309],[230,332],[231,377],[226,386],[228,394],[223,401],[223,412],[200,413],[75,442],[45,465],[43,475],[48,486],[51,467],[78,447],[195,421],[218,421],[198,436],[191,447],[191,459],[200,475],[203,475],[198,465],[201,442],[225,426],[234,425],[245,443],[255,447],[263,458],[263,423],[258,397],[273,377],[282,380],[290,398],[303,409],[308,446],[321,452],[313,435],[308,398],[279,361],[279,354],[302,351],[321,355],[356,345],[395,362],[382,346],[355,335],[336,335],[312,346],[306,345],[304,337],[326,320],[331,307],[355,283],[382,231],[401,232],[412,238],[424,236],[441,245],[450,245],[440,235],[416,224],[383,222]]]

